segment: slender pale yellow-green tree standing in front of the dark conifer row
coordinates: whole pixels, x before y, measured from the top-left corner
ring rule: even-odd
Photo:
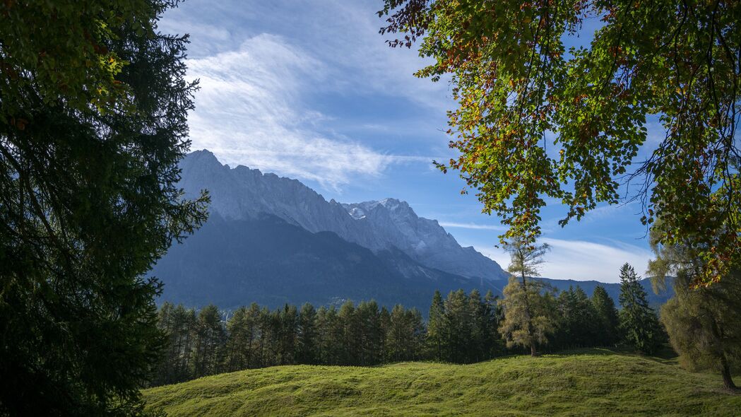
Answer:
[[[508,271],[513,277],[502,291],[505,318],[499,332],[508,347],[529,347],[530,354],[535,356],[536,344],[545,344],[548,341],[546,336],[554,331],[554,319],[553,310],[546,306],[547,296],[542,294],[545,284],[528,278],[539,275],[538,268],[543,263],[543,255],[548,252],[548,245],[535,246],[527,240],[514,239],[505,248],[510,252]]]

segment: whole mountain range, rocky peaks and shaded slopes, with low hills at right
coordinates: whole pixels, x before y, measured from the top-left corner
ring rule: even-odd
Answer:
[[[222,165],[209,151],[188,154],[181,168],[186,196],[209,191],[210,217],[154,267],[165,283],[161,301],[232,309],[373,298],[427,312],[436,289],[500,293],[507,284],[494,260],[461,247],[404,201],[327,201],[297,180]],[[590,295],[598,284],[543,280]],[[619,284],[599,284],[617,303]],[[667,298],[648,295],[654,305]]]

